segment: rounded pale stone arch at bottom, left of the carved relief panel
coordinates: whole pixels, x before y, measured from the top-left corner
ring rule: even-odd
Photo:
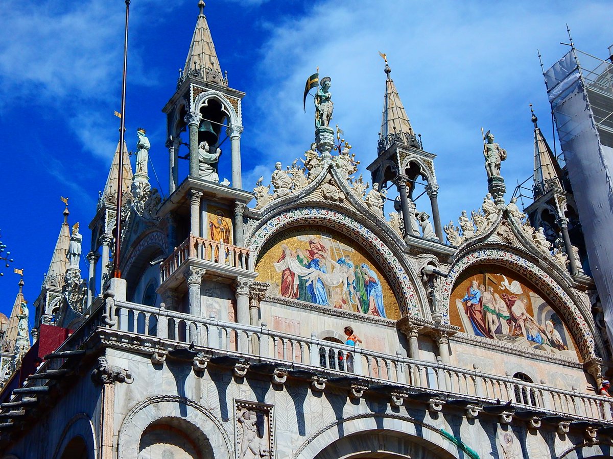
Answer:
[[[215,459],[234,457],[234,453],[230,455],[234,452],[230,435],[215,414],[188,398],[162,395],[147,398],[128,412],[117,438],[118,459],[138,457],[147,428],[169,419],[180,420],[181,428],[189,426],[192,439],[206,438],[208,443],[203,446],[215,452]]]

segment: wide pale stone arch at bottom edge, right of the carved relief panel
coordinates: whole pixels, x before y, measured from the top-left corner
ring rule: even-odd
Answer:
[[[452,437],[402,414],[364,413],[322,427],[298,447],[292,459],[474,457],[470,446]]]

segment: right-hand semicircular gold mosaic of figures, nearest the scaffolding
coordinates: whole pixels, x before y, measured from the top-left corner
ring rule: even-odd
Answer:
[[[462,331],[514,345],[577,356],[573,339],[539,294],[512,274],[475,274],[451,294]]]

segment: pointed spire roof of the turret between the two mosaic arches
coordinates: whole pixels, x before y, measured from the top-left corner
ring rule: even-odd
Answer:
[[[405,107],[402,105],[400,95],[394,84],[394,80],[389,76],[392,69],[387,64],[385,54],[386,91],[383,99],[383,117],[381,118],[381,132],[379,133],[379,153],[385,151],[394,142],[413,146],[421,149]]]

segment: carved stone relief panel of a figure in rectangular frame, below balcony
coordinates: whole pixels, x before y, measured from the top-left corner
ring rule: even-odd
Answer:
[[[276,457],[272,405],[236,400],[234,419],[238,459]]]

